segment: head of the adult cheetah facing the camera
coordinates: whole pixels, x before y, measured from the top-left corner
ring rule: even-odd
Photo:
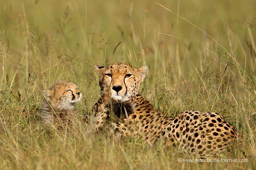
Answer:
[[[108,67],[96,65],[95,70],[99,73],[102,94],[117,102],[128,101],[135,96],[148,74],[147,66],[136,69],[126,63],[114,63]]]

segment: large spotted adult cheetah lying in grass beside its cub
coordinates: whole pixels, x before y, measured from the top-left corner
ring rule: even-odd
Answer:
[[[195,154],[220,151],[236,137],[232,125],[216,113],[185,111],[174,119],[164,117],[139,91],[148,73],[146,66],[136,69],[113,63],[108,67],[96,65],[95,70],[101,87],[101,97],[93,107],[96,129],[114,114],[124,136],[136,136],[148,144],[163,140]]]

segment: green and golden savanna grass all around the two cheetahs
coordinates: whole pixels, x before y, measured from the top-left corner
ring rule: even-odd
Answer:
[[[254,1],[0,4],[0,169],[256,168]],[[248,162],[178,162],[194,157],[162,144],[113,141],[82,126],[66,137],[36,121],[42,90],[58,80],[78,84],[76,109],[88,115],[100,97],[94,65],[114,62],[150,67],[142,94],[167,117],[219,113],[238,138],[218,159]]]

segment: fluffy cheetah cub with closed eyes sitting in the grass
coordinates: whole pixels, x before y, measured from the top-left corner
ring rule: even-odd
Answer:
[[[82,98],[78,86],[72,82],[59,81],[48,90],[43,90],[44,98],[40,103],[36,118],[45,125],[53,125],[62,131],[77,117],[74,105]]]

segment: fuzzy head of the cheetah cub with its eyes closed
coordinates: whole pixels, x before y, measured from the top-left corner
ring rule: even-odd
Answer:
[[[78,86],[72,82],[59,81],[54,83],[49,90],[43,90],[43,95],[53,109],[74,109],[74,104],[82,98]]]

